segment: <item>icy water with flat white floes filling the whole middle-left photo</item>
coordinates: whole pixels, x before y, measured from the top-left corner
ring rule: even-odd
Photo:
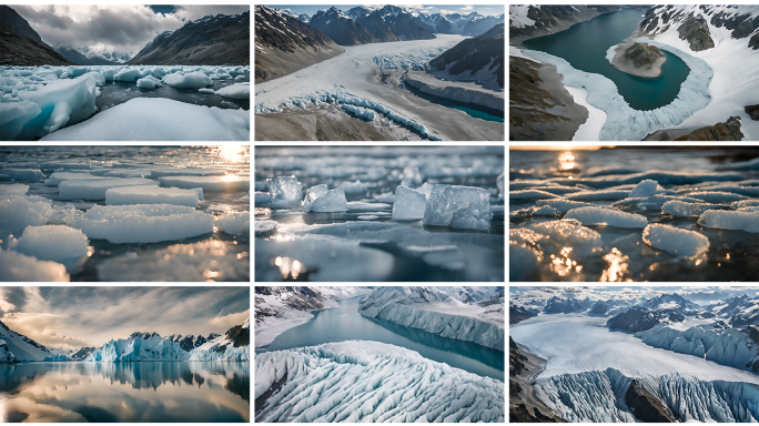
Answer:
[[[0,149],[0,281],[250,280],[246,146]]]

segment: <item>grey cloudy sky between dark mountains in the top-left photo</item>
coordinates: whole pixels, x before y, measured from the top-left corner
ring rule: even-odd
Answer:
[[[117,52],[133,57],[164,31],[174,31],[185,21],[206,14],[237,14],[247,4],[232,6],[139,6],[139,4],[11,4],[42,41],[53,48],[88,47],[99,53]]]

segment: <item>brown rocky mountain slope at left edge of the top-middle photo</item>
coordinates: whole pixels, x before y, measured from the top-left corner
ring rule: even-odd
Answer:
[[[255,82],[286,75],[344,51],[298,17],[255,7]]]

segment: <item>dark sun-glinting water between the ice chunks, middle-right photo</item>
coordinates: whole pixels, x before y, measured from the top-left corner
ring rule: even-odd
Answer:
[[[745,200],[759,200],[759,171],[735,170],[733,163],[759,156],[757,148],[719,149],[603,149],[598,151],[517,151],[509,152],[509,191],[544,187],[557,194],[571,194],[573,191],[620,190],[630,191],[647,178],[632,180],[632,183],[617,185],[611,181],[618,176],[632,175],[655,170],[675,173],[729,173],[727,181],[715,182],[709,178],[696,179],[697,182],[678,184],[675,181],[659,182],[665,193],[685,195],[710,190],[715,184],[726,184],[743,190],[737,196]],[[593,181],[588,181],[588,179]],[[577,181],[573,183],[571,181]],[[608,182],[605,183],[605,180]],[[588,186],[590,184],[591,186]],[[560,189],[557,186],[566,186]],[[555,186],[555,189],[550,189]],[[565,192],[566,191],[566,192]],[[715,190],[710,190],[715,191]],[[730,192],[730,190],[722,190]],[[559,195],[560,196],[560,195]],[[509,201],[509,229],[535,229],[535,225],[560,220],[559,216],[533,215],[528,211],[546,196],[517,197]],[[624,202],[625,196],[606,200],[577,200],[597,206],[611,206]],[[710,201],[725,204],[723,210],[735,210],[730,202]],[[705,227],[697,222],[699,216],[676,217],[662,213],[661,209],[648,209],[638,203],[616,204],[618,211],[635,213],[646,217],[649,224],[661,223],[689,230],[709,240],[709,250],[695,256],[678,256],[664,250],[647,245],[641,240],[641,229],[617,227],[610,225],[587,225],[600,234],[603,247],[593,254],[578,253],[578,244],[551,246],[530,246],[537,253],[537,266],[527,272],[519,281],[757,281],[759,280],[759,234],[715,227]],[[512,236],[512,244],[523,244]],[[526,244],[530,245],[530,244]],[[515,248],[517,250],[517,248]],[[526,264],[525,258],[515,261],[512,254],[512,270]],[[523,270],[526,271],[526,270]],[[514,276],[514,275],[513,275]]]

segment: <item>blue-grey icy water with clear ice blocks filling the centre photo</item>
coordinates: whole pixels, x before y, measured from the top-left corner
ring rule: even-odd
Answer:
[[[503,148],[262,146],[254,165],[256,281],[504,280]],[[285,195],[266,180],[291,175],[292,200],[272,200]],[[424,224],[433,185],[473,194],[451,195],[468,206],[451,225]]]

